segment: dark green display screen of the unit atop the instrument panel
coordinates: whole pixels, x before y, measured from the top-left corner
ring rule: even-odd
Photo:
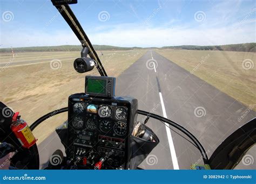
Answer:
[[[106,94],[106,80],[87,79],[87,93]]]

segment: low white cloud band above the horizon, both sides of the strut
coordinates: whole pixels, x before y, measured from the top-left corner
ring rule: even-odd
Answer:
[[[255,21],[248,21],[239,26],[212,28],[198,23],[198,26],[173,28],[154,28],[137,24],[113,26],[86,31],[93,44],[114,46],[172,46],[172,45],[223,45],[256,42]],[[33,30],[19,30],[1,33],[1,47],[78,45],[80,42],[70,31],[45,33]]]

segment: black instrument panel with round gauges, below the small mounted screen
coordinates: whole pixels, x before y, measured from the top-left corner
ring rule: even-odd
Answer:
[[[73,167],[122,169],[129,156],[134,103],[127,99],[69,98],[68,149]],[[136,100],[137,102],[137,100]],[[136,104],[136,105],[132,105]]]

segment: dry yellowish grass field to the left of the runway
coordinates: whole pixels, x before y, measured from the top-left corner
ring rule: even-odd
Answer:
[[[103,51],[102,56],[99,51],[98,54],[107,74],[117,77],[145,52]],[[19,111],[29,124],[50,111],[68,106],[70,94],[84,92],[85,74],[73,69],[73,60],[80,57],[80,52],[23,52],[15,54],[14,59],[11,53],[0,53],[0,56],[0,64],[6,63],[0,68],[0,99],[14,111]],[[51,65],[52,59],[59,59],[60,63]],[[19,64],[25,61],[31,63],[8,65],[9,62]],[[86,73],[90,74],[99,75],[97,69]],[[67,114],[56,115],[38,126],[35,130],[38,142],[55,131],[67,118]]]

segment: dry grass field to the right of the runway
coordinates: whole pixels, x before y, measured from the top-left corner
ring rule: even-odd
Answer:
[[[156,50],[159,54],[256,111],[256,53]]]

